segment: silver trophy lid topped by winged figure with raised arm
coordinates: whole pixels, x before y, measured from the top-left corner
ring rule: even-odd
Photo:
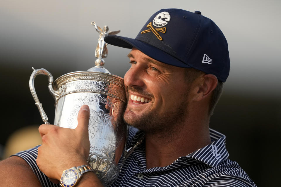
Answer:
[[[94,71],[94,72],[104,72],[111,74],[106,68],[103,67],[104,65],[104,59],[107,57],[107,43],[104,41],[104,37],[107,35],[114,35],[118,34],[120,30],[118,31],[111,31],[109,32],[109,28],[107,25],[104,25],[103,29],[96,25],[96,23],[93,21],[92,25],[95,26],[95,29],[98,33],[100,33],[100,38],[98,40],[98,44],[95,50],[95,57],[97,57],[97,60],[95,60],[95,67],[91,67],[88,69],[88,71]]]

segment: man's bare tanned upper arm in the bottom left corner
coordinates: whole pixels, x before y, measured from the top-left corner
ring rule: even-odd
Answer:
[[[0,181],[1,186],[41,186],[28,163],[17,156],[0,162]]]

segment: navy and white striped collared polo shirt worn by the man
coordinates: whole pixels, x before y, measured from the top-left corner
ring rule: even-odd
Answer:
[[[133,146],[143,132],[131,128],[126,148]],[[208,187],[256,187],[256,184],[233,162],[225,147],[225,136],[210,129],[212,143],[187,156],[179,157],[171,165],[146,169],[145,144],[141,143],[128,156],[114,183],[117,186],[208,186]],[[58,187],[49,181],[36,165],[37,148],[19,152],[33,172],[40,179],[42,186]],[[119,161],[119,165],[122,160]]]

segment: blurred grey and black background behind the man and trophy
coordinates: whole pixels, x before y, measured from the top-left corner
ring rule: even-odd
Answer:
[[[211,18],[229,45],[230,75],[210,127],[226,135],[229,158],[239,162],[258,186],[277,183],[281,1],[1,0],[0,4],[1,158],[40,143],[36,132],[42,120],[28,86],[31,67],[47,69],[54,79],[87,70],[94,66],[99,37],[92,21],[134,38],[156,11],[181,8]],[[105,67],[124,77],[130,50],[108,46],[108,51]],[[37,95],[53,123],[54,100],[47,84],[47,77],[36,77]],[[25,147],[18,148],[20,143]]]

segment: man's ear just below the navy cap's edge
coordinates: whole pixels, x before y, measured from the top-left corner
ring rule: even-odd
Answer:
[[[195,89],[196,97],[194,100],[200,101],[212,94],[212,91],[217,87],[217,77],[212,74],[205,74],[200,77],[200,80]]]

